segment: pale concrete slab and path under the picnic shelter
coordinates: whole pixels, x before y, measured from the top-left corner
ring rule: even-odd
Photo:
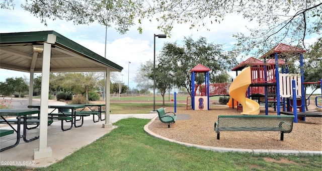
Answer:
[[[37,100],[36,100],[37,101]],[[23,101],[17,101],[18,104]],[[33,103],[35,104],[35,103]],[[36,103],[37,104],[37,103]],[[57,101],[49,101],[49,105],[63,105],[65,103]],[[21,107],[21,106],[19,106]],[[50,110],[50,109],[49,109]],[[111,114],[110,122],[115,123],[118,120],[125,118],[142,118],[142,119],[152,119],[157,114]],[[84,118],[84,125],[78,128],[72,128],[67,131],[61,130],[60,121],[54,121],[50,126],[48,126],[48,147],[51,147],[53,151],[52,157],[33,160],[34,149],[39,148],[39,139],[24,142],[21,138],[20,143],[11,149],[3,151],[0,153],[0,166],[1,165],[26,165],[27,168],[35,167],[46,167],[53,164],[64,157],[73,153],[75,150],[86,146],[103,135],[109,133],[111,130],[116,128],[102,128],[102,124],[105,121],[100,121],[97,123],[93,122],[93,116]],[[64,127],[69,127],[69,123],[64,122]],[[2,127],[1,129],[11,129],[8,127]],[[22,130],[21,130],[22,134]],[[36,137],[39,135],[39,128],[27,130],[27,139]],[[11,134],[8,136],[1,137],[0,148],[13,145],[16,142],[17,135]]]

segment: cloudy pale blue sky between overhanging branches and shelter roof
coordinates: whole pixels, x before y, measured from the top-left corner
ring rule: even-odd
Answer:
[[[16,5],[15,10],[2,9],[0,13],[0,33],[54,30],[104,57],[105,26],[96,23],[73,25],[72,22],[51,21],[50,19],[48,19],[47,24],[48,26],[44,26],[38,18],[22,10],[20,5]],[[248,33],[246,25],[255,27],[255,23],[249,23],[243,17],[236,15],[226,16],[220,24],[206,25],[206,28],[210,29],[210,31],[207,31],[206,28],[202,28],[200,31],[189,29],[189,25],[175,25],[170,38],[156,38],[156,55],[165,42],[177,41],[180,43],[183,41],[184,36],[192,36],[194,40],[197,40],[200,36],[206,37],[209,43],[224,44],[224,49],[229,50],[236,41],[232,37],[233,34]],[[129,87],[131,89],[136,87],[136,83],[132,78],[135,77],[140,63],[153,60],[153,34],[163,34],[157,30],[157,23],[146,21],[143,22],[142,28],[142,34],[137,31],[137,26],[132,26],[124,35],[116,32],[114,28],[107,29],[106,57],[124,68],[122,73],[119,73],[119,80],[123,78],[122,82],[127,85],[129,78]],[[315,40],[316,38],[313,37],[307,41],[311,43],[315,42]],[[131,62],[130,65],[128,65],[129,61]],[[0,69],[0,73],[0,81],[5,81],[7,77],[24,75],[29,77],[29,73],[5,69]]]

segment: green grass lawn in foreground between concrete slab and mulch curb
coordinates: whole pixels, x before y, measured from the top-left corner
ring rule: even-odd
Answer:
[[[35,170],[321,170],[321,155],[214,152],[154,138],[148,119],[128,118],[95,142]],[[268,160],[270,159],[270,160]],[[273,160],[273,161],[271,161]],[[2,166],[0,170],[26,170]]]

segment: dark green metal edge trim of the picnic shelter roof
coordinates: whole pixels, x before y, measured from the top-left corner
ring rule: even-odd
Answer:
[[[82,45],[62,36],[61,34],[55,31],[38,31],[38,32],[20,32],[20,33],[0,33],[0,60],[5,59],[5,55],[2,51],[5,51],[1,48],[10,48],[11,45],[15,44],[31,44],[37,45],[41,42],[47,41],[48,35],[53,34],[56,36],[56,41],[53,44],[54,47],[59,47],[66,49],[68,52],[75,53],[79,56],[90,59],[90,61],[95,61],[110,67],[111,71],[121,72],[123,67],[120,65],[98,55],[97,53],[85,48]],[[8,45],[8,46],[7,46]],[[15,50],[19,51],[18,48]],[[27,53],[27,52],[26,52]],[[3,56],[1,56],[3,55]],[[0,64],[3,64],[0,61]]]

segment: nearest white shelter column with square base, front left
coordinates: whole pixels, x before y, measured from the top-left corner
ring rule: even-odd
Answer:
[[[48,35],[49,37],[49,35]],[[49,72],[50,72],[51,44],[44,43],[42,76],[41,76],[41,101],[40,101],[40,126],[39,148],[34,149],[34,159],[52,156],[52,150],[47,147],[48,133],[48,96],[49,96]]]

